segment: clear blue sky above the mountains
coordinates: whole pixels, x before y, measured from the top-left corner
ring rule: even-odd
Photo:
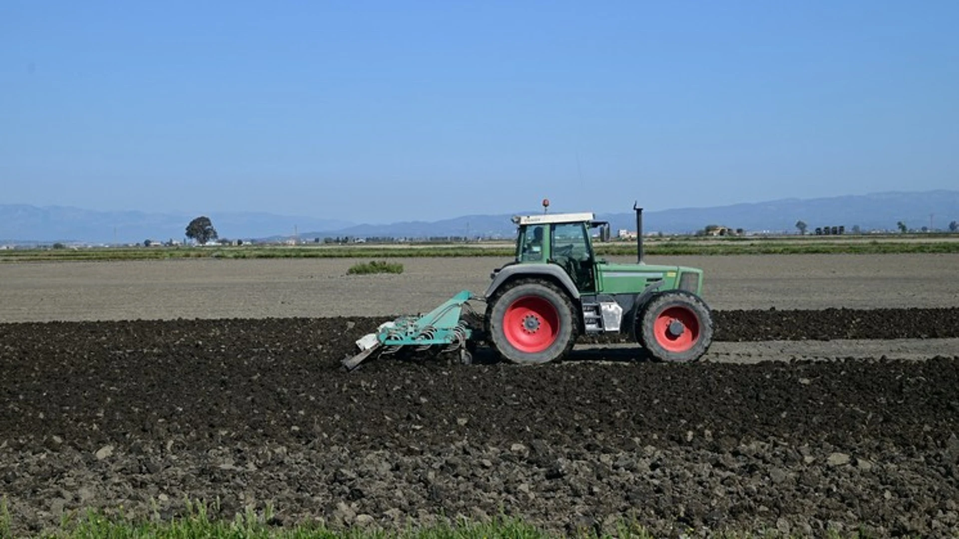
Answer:
[[[959,2],[0,3],[0,203],[387,223],[959,187]]]

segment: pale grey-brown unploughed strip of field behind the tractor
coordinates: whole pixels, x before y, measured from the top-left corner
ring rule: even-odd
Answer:
[[[628,259],[622,259],[628,260]],[[401,275],[347,276],[352,259],[0,264],[0,321],[426,312],[483,293],[500,258],[402,259]],[[706,271],[713,309],[951,307],[959,255],[668,257]]]

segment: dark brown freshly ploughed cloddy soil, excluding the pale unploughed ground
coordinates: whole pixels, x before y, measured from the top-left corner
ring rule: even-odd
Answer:
[[[956,337],[957,310],[716,313],[720,340]],[[959,532],[959,357],[339,360],[373,318],[0,324],[15,532],[185,498],[277,525]],[[929,329],[929,328],[932,329]]]

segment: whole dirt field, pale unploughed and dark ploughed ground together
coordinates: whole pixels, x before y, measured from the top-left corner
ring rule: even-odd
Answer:
[[[3,319],[39,320],[0,323],[14,531],[189,497],[227,519],[272,504],[276,526],[959,533],[959,257],[682,260],[712,276],[705,363],[602,340],[538,367],[480,351],[345,373],[383,318],[316,316],[424,310],[495,265],[341,276],[352,262],[0,265]]]

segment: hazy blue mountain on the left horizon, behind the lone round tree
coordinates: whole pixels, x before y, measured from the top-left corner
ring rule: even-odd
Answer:
[[[223,238],[292,235],[299,230],[342,228],[353,223],[257,212],[206,214]],[[65,206],[0,204],[0,242],[140,243],[183,240],[186,225],[199,214],[103,212]]]

